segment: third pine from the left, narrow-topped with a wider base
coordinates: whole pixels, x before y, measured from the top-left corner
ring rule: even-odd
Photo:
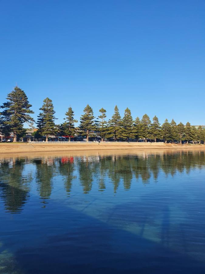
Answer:
[[[68,111],[65,113],[66,118],[64,118],[66,121],[61,124],[60,129],[63,131],[64,134],[69,136],[69,141],[70,141],[70,136],[75,135],[76,130],[74,123],[77,123],[78,121],[74,119],[74,111],[72,107],[68,108]]]

